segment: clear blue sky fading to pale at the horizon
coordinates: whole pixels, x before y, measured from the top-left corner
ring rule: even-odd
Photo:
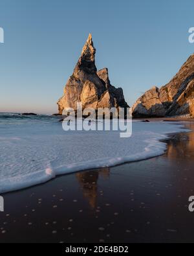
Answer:
[[[55,113],[89,32],[97,68],[133,104],[194,52],[193,10],[193,0],[1,0],[0,111]]]

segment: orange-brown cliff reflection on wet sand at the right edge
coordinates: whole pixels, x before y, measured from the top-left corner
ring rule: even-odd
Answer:
[[[186,128],[190,130],[194,130],[194,123],[186,124]],[[173,136],[172,139],[169,141],[169,145],[167,148],[167,157],[169,159],[177,159],[184,158],[186,155],[191,156],[193,159],[193,152],[194,152],[194,133],[182,133],[176,134]]]

